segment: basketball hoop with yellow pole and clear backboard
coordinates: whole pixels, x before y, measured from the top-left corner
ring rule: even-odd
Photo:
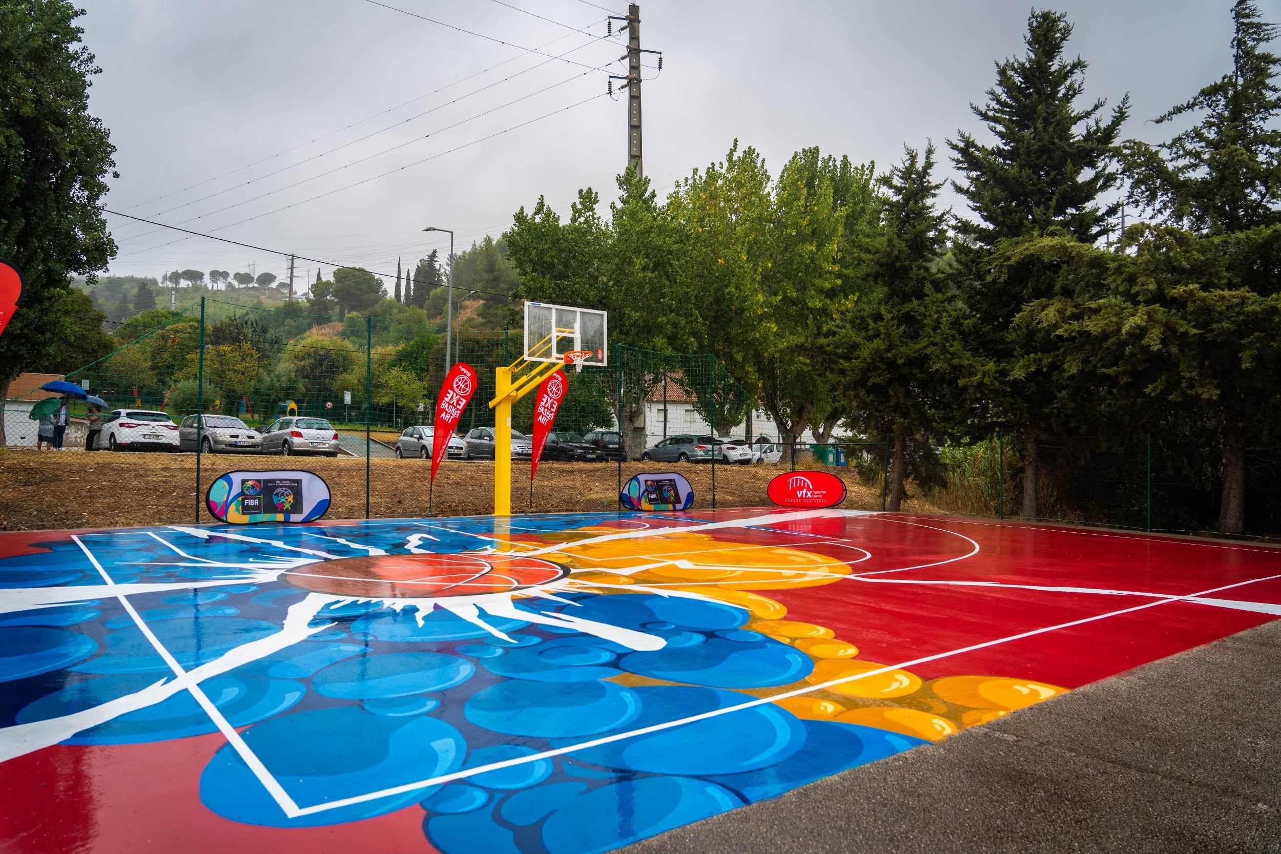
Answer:
[[[525,303],[525,348],[520,359],[494,369],[493,512],[511,515],[511,405],[551,374],[573,364],[605,367],[608,315],[546,302]]]

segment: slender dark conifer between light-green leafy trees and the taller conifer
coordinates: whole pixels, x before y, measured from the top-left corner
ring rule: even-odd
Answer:
[[[867,287],[842,303],[826,348],[840,410],[852,424],[893,437],[889,508],[904,497],[908,442],[938,435],[958,408],[966,374],[959,312],[938,264],[948,213],[935,206],[934,146],[906,149],[880,179],[880,233],[865,242]]]

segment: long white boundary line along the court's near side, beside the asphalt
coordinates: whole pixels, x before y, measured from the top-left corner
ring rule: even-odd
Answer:
[[[400,795],[409,791],[415,791],[418,789],[425,789],[428,786],[436,786],[443,782],[452,782],[455,780],[464,780],[478,773],[485,773],[487,771],[497,771],[501,768],[510,768],[512,766],[524,764],[526,762],[535,762],[538,759],[546,759],[548,757],[559,757],[566,753],[573,753],[575,750],[585,750],[588,748],[596,748],[605,744],[611,744],[614,741],[621,741],[624,739],[633,739],[639,735],[648,735],[651,732],[661,732],[662,730],[669,730],[671,727],[683,726],[685,723],[693,723],[696,721],[705,721],[708,718],[717,717],[720,714],[729,714],[730,712],[738,712],[747,708],[753,708],[757,705],[765,705],[766,703],[774,703],[780,699],[788,699],[790,697],[802,697],[804,694],[812,694],[813,691],[828,690],[829,688],[835,688],[836,685],[843,685],[845,682],[858,681],[861,679],[867,679],[870,676],[877,676],[880,673],[888,673],[894,670],[902,670],[904,667],[916,667],[917,665],[925,665],[931,661],[939,661],[942,658],[951,658],[952,656],[961,656],[965,653],[975,652],[977,649],[986,649],[988,647],[997,647],[999,644],[1007,644],[1015,640],[1024,640],[1025,638],[1034,638],[1036,635],[1043,635],[1050,631],[1061,631],[1063,629],[1072,629],[1075,626],[1081,626],[1089,622],[1097,622],[1099,620],[1107,620],[1108,617],[1118,617],[1125,613],[1134,613],[1136,611],[1144,611],[1146,608],[1155,608],[1171,602],[1181,602],[1184,599],[1195,599],[1196,597],[1208,595],[1211,593],[1218,593],[1220,590],[1228,590],[1231,588],[1243,586],[1246,584],[1254,584],[1257,581],[1271,581],[1272,579],[1281,579],[1281,575],[1272,575],[1261,579],[1249,579],[1246,581],[1237,581],[1236,584],[1227,584],[1218,588],[1212,588],[1209,590],[1203,590],[1200,593],[1193,593],[1186,597],[1175,597],[1170,599],[1159,599],[1157,602],[1145,602],[1144,604],[1132,606],[1129,608],[1121,608],[1120,611],[1109,611],[1108,613],[1095,615],[1093,617],[1082,617],[1080,620],[1071,620],[1068,622],[1059,622],[1053,626],[1045,626],[1043,629],[1032,629],[1030,631],[1021,631],[1015,635],[1006,635],[1004,638],[997,638],[995,640],[984,640],[977,644],[970,644],[968,647],[961,647],[959,649],[952,649],[949,652],[935,653],[933,656],[922,656],[920,658],[913,658],[911,661],[899,662],[897,665],[886,665],[876,670],[863,671],[861,673],[854,673],[852,676],[843,676],[842,679],[833,679],[826,682],[820,682],[817,685],[811,685],[808,688],[798,688],[792,691],[783,694],[775,694],[774,697],[756,698],[747,700],[746,703],[739,703],[737,705],[729,705],[720,709],[714,709],[711,712],[703,712],[701,714],[690,714],[688,717],[678,718],[675,721],[666,721],[664,723],[655,723],[652,726],[639,727],[637,730],[629,730],[626,732],[617,732],[615,735],[607,735],[600,739],[591,739],[588,741],[582,741],[579,744],[573,744],[564,748],[555,748],[551,750],[544,750],[541,753],[516,757],[512,759],[503,759],[501,762],[491,762],[489,764],[477,766],[474,768],[464,768],[462,771],[455,771],[452,773],[439,775],[437,777],[428,777],[427,780],[419,780],[416,782],[407,782],[400,786],[391,786],[388,789],[380,789],[365,795],[355,795],[352,798],[343,798],[341,800],[332,800],[324,804],[316,804],[314,807],[304,807],[300,809],[300,814],[310,816],[314,813],[320,813],[328,809],[337,809],[339,807],[350,807],[352,804],[360,804],[369,800],[377,800],[379,798],[388,798],[391,795]]]

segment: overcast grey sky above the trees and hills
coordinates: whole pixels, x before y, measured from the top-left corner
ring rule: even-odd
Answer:
[[[386,0],[441,23],[366,0],[82,3],[102,68],[91,109],[117,146],[113,210],[322,259],[327,275],[329,261],[395,274],[397,257],[447,251],[425,225],[453,228],[461,250],[539,195],[565,214],[579,187],[616,195],[626,102],[603,92],[623,47],[585,0]],[[1261,5],[1281,18],[1276,0]],[[1130,92],[1125,132],[1146,140],[1167,134],[1152,118],[1225,72],[1228,6],[1054,4],[1090,63],[1088,96]],[[664,55],[643,86],[646,174],[665,195],[735,137],[772,174],[813,145],[880,170],[904,142],[945,154],[958,128],[981,131],[968,104],[993,61],[1022,50],[1027,13],[998,0],[643,3],[642,46]],[[286,273],[278,255],[108,220],[111,273]],[[298,261],[300,282],[315,268]]]

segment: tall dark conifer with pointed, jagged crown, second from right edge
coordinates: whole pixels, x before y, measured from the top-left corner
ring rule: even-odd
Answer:
[[[1036,260],[1008,242],[1065,234],[1089,245],[1102,237],[1118,205],[1104,205],[1099,197],[1120,181],[1112,163],[1130,102],[1123,97],[1107,118],[1103,100],[1077,106],[1088,64],[1065,59],[1071,35],[1066,15],[1034,10],[1026,52],[997,64],[988,102],[972,108],[993,142],[959,132],[948,143],[965,177],[953,187],[977,216],[957,224],[963,238],[958,257],[966,302],[980,321],[974,344],[994,365],[998,380],[988,387],[988,417],[997,426],[1022,430],[1026,519],[1036,517],[1038,435],[1054,426],[1047,424],[1047,412],[1061,397],[1061,376],[1030,370],[1045,364],[1040,347],[1047,337],[1038,326],[1016,328],[1012,320],[1029,302],[1056,294],[1059,266],[1053,252]],[[1006,254],[999,265],[993,264],[998,252]],[[1020,337],[1024,332],[1032,334]]]

